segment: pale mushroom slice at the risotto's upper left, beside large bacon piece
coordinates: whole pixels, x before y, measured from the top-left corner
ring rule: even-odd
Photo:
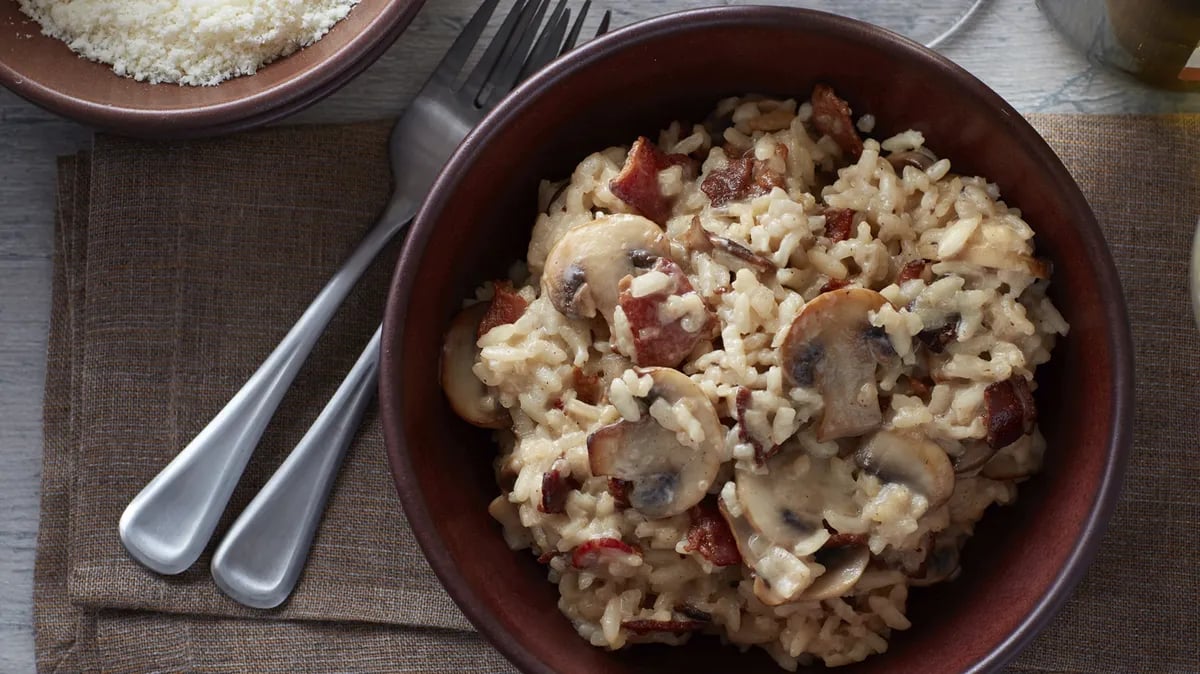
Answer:
[[[652,221],[628,213],[602,216],[568,230],[554,243],[541,289],[564,315],[600,313],[611,324],[620,279],[668,253],[666,235]]]

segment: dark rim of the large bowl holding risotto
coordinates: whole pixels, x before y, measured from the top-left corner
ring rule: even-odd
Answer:
[[[665,34],[698,31],[730,23],[739,25],[803,23],[809,29],[827,28],[839,35],[856,35],[863,40],[890,43],[894,48],[911,52],[914,58],[925,61],[934,72],[961,83],[979,97],[989,101],[1004,119],[1003,124],[1014,134],[1019,146],[1024,148],[1026,152],[1033,154],[1034,158],[1046,167],[1054,180],[1064,187],[1062,194],[1067,203],[1067,210],[1081,216],[1079,219],[1080,236],[1085,241],[1088,259],[1097,263],[1094,277],[1098,290],[1102,296],[1118,299],[1115,302],[1105,302],[1103,306],[1105,324],[1110,326],[1109,335],[1111,336],[1114,359],[1112,398],[1109,410],[1114,429],[1104,447],[1106,462],[1100,475],[1099,487],[1088,506],[1080,535],[1072,546],[1067,561],[1055,574],[1045,592],[1037,600],[1033,609],[1021,619],[1006,639],[995,644],[982,660],[965,670],[970,674],[998,672],[1033,640],[1066,603],[1070,591],[1082,579],[1096,558],[1104,530],[1116,508],[1133,443],[1133,333],[1112,255],[1091,206],[1062,161],[1028,121],[998,94],[961,66],[917,42],[880,26],[814,10],[779,6],[724,6],[673,12],[646,19],[596,38],[566,58],[552,62],[511,92],[467,136],[431,187],[430,195],[418,212],[404,241],[389,289],[384,313],[380,373],[386,375],[386,373],[392,372],[400,354],[403,351],[404,315],[408,311],[420,258],[433,233],[433,222],[454,194],[463,169],[473,161],[478,149],[490,144],[494,137],[502,134],[512,120],[522,115],[533,102],[541,98],[541,91],[552,88],[558,80],[571,77],[595,61],[605,59],[611,53],[635,49],[637,46]],[[409,446],[403,434],[401,420],[403,409],[401,387],[389,386],[380,377],[379,401],[392,480],[408,517],[409,526],[433,572],[468,620],[509,661],[522,672],[548,673],[548,669],[532,650],[512,638],[512,634],[496,616],[481,608],[470,584],[456,568],[444,542],[436,535],[432,513],[426,505],[422,488],[412,470]]]

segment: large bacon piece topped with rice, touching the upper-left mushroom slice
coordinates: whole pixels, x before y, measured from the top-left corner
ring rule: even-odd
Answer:
[[[665,273],[673,282],[673,287],[665,290],[635,297],[631,290],[634,277],[626,276],[617,284],[619,294],[617,302],[625,314],[629,330],[634,336],[634,362],[640,366],[674,367],[679,365],[688,354],[712,332],[714,317],[707,309],[708,319],[706,325],[700,326],[695,332],[684,327],[684,319],[680,317],[671,323],[662,323],[660,309],[672,296],[683,296],[695,293],[688,276],[684,275],[679,265],[667,258],[659,258],[654,263],[653,271]]]

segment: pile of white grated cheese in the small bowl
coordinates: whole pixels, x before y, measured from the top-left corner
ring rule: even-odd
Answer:
[[[214,85],[306,47],[358,0],[18,0],[42,32],[140,82]]]

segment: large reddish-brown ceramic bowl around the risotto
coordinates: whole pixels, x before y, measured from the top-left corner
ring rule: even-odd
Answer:
[[[540,177],[565,177],[587,154],[673,119],[703,119],[719,97],[805,96],[816,82],[874,113],[876,136],[918,128],[956,170],[997,182],[1054,260],[1051,295],[1072,327],[1038,371],[1044,471],[1015,506],[988,513],[960,579],[912,592],[913,626],[887,654],[839,672],[997,670],[1046,625],[1096,552],[1129,450],[1133,350],[1104,239],[1045,142],[979,80],[881,29],[768,7],[662,17],[553,64],[470,134],[408,235],[388,301],[382,415],[404,511],[463,613],[524,672],[779,670],[763,652],[712,638],[607,652],[577,637],[545,568],[509,550],[487,516],[494,449],[450,410],[433,354],[462,299],[523,257]]]

